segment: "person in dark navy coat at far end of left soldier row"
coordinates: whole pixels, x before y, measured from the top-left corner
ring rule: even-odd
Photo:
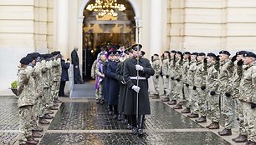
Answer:
[[[64,97],[64,88],[66,85],[66,81],[69,81],[69,58],[67,59],[67,62],[64,61],[63,58],[61,58],[61,67],[62,67],[62,73],[61,73],[61,79],[60,79],[60,86],[59,86],[59,97]]]

